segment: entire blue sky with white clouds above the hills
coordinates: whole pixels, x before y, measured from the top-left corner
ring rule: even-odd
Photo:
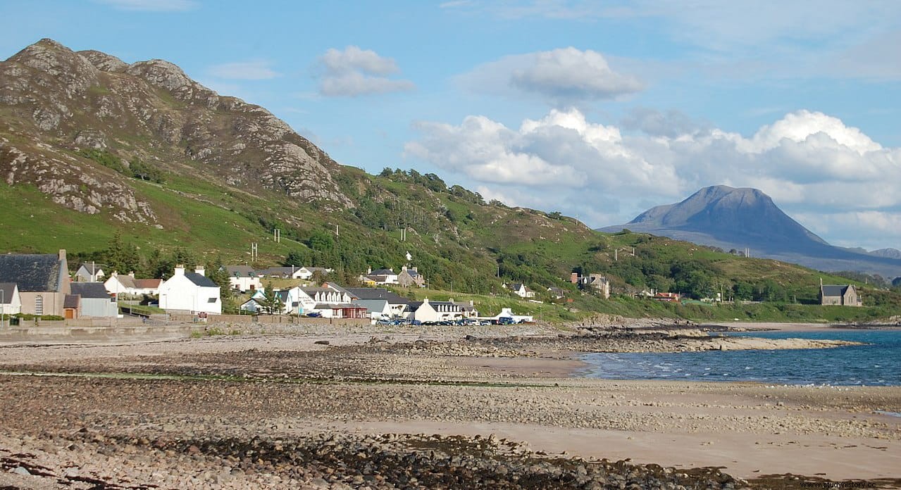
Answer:
[[[756,187],[830,243],[901,249],[896,0],[5,0],[0,27],[0,59],[166,59],[369,173],[591,227]]]

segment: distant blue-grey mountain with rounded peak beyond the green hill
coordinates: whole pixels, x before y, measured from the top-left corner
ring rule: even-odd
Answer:
[[[901,276],[901,252],[833,247],[783,213],[758,189],[705,187],[678,204],[656,206],[623,225],[599,231],[641,231],[723,250],[750,249],[752,257],[794,262],[819,270]]]

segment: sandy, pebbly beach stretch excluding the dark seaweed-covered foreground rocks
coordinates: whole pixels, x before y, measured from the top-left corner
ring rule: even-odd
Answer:
[[[5,347],[0,370],[85,377],[0,375],[0,446],[44,454],[58,444],[47,437],[64,441],[79,424],[105,438],[494,433],[547,453],[724,467],[746,479],[898,477],[901,418],[874,412],[901,411],[901,387],[584,379],[554,341],[497,349],[446,331],[332,331]]]

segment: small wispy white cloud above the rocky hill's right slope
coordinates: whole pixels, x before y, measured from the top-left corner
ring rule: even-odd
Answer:
[[[357,46],[325,51],[319,58],[319,69],[319,93],[326,96],[409,92],[416,87],[409,80],[386,77],[400,71],[394,59],[382,57],[373,50],[360,50]]]

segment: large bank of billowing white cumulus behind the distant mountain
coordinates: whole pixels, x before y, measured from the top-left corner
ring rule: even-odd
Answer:
[[[749,137],[718,129],[668,134],[656,125],[650,134],[623,135],[576,109],[552,110],[518,129],[484,116],[415,128],[422,136],[406,144],[405,157],[463,175],[483,195],[593,226],[725,184],[760,188],[802,224],[821,216],[814,231],[828,230],[826,240],[854,233],[873,248],[901,242],[901,149],[824,113],[788,113]]]

